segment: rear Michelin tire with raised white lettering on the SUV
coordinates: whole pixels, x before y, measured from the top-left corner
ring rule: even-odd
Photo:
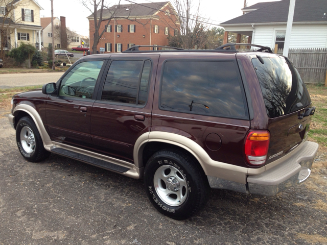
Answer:
[[[160,178],[160,174],[166,182]],[[178,184],[169,183],[171,177]],[[144,183],[153,206],[174,219],[185,219],[196,214],[205,205],[210,191],[201,166],[188,155],[175,150],[156,152],[148,160]],[[176,186],[179,186],[178,190],[171,190]]]

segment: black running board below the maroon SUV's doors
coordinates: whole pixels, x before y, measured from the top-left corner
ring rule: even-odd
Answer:
[[[79,161],[82,161],[82,162],[85,162],[85,163],[88,163],[91,165],[95,165],[95,166],[102,167],[102,168],[105,168],[108,170],[112,170],[112,171],[115,171],[115,172],[118,172],[121,174],[130,170],[130,168],[128,168],[128,167],[123,167],[120,165],[113,164],[111,162],[103,161],[101,159],[89,157],[89,156],[86,156],[86,155],[83,155],[80,153],[76,153],[73,151],[68,151],[63,148],[52,148],[51,152],[57,153],[59,155],[66,156],[69,158],[73,158],[73,159],[76,159],[76,160],[79,160]]]

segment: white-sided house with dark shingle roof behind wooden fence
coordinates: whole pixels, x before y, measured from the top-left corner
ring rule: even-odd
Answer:
[[[220,25],[228,33],[249,36],[248,43],[284,47],[290,0],[258,3],[242,11],[244,15]],[[290,48],[327,47],[327,0],[296,0]]]

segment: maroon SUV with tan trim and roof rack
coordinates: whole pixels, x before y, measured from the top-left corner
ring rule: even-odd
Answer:
[[[288,58],[235,43],[142,47],[83,57],[57,83],[14,95],[22,157],[55,153],[143,178],[150,202],[175,219],[197,213],[210,187],[275,195],[310,176],[315,107]]]

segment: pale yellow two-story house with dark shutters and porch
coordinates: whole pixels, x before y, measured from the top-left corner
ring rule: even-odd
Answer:
[[[40,10],[43,8],[34,0],[0,1],[0,39],[4,50],[29,43],[41,50]]]

